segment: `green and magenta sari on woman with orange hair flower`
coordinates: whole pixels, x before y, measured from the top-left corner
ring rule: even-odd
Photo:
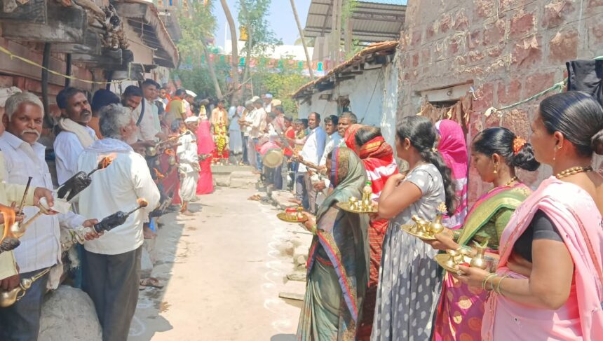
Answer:
[[[474,240],[475,234],[488,223],[492,222],[496,225],[507,223],[508,214],[501,216],[498,214],[499,211],[501,209],[517,209],[530,193],[531,190],[527,186],[517,183],[515,186],[494,188],[489,193],[482,195],[471,207],[458,243],[472,246],[470,242]],[[498,235],[489,235],[489,240],[494,242],[493,239],[498,242]],[[498,253],[492,249],[489,252]],[[462,284],[461,281],[446,272],[438,313],[435,316],[433,340],[480,340],[482,316],[487,297],[486,291]]]

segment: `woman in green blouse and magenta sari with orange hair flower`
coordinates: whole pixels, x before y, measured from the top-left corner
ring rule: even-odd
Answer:
[[[515,168],[534,171],[540,164],[531,145],[503,127],[492,127],[477,134],[471,150],[473,165],[482,181],[494,188],[480,197],[470,209],[463,228],[445,230],[434,249],[458,249],[460,246],[487,244],[496,255],[499,239],[511,215],[531,193],[515,175]],[[434,340],[481,340],[482,315],[487,292],[469,288],[445,274],[442,295],[435,317]]]

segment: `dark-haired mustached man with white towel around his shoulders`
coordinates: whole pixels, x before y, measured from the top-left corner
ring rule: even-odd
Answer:
[[[88,127],[92,109],[86,92],[78,88],[65,88],[57,95],[61,109],[59,127],[53,148],[56,155],[57,181],[62,185],[76,174],[77,158],[84,148],[97,140],[95,131]]]

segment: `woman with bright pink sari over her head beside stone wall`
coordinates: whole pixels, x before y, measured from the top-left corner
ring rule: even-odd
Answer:
[[[456,189],[456,209],[452,216],[447,216],[442,223],[452,230],[463,225],[467,216],[467,168],[469,165],[467,144],[463,128],[454,120],[440,120],[435,123],[440,139],[438,151],[452,172],[452,180]]]

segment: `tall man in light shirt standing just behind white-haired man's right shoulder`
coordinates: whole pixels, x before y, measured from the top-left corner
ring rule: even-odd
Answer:
[[[159,84],[152,79],[147,79],[142,83],[142,95],[140,105],[132,111],[132,118],[138,127],[136,138],[140,141],[157,141],[164,139],[165,134],[157,128],[158,109],[155,105],[157,98],[157,88]]]

